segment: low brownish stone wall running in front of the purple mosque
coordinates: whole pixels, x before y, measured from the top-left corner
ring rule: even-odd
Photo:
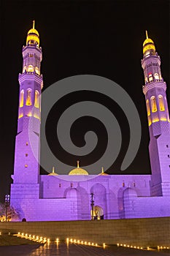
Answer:
[[[69,222],[0,222],[0,232],[28,233],[98,244],[170,246],[170,217]]]

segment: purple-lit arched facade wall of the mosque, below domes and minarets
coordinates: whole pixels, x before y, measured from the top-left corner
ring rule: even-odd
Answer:
[[[40,192],[38,185],[12,185],[12,203],[28,221],[90,219],[90,192],[94,192],[95,206],[104,210],[104,219],[169,217],[169,197],[150,197],[150,176],[69,178],[40,176]]]

